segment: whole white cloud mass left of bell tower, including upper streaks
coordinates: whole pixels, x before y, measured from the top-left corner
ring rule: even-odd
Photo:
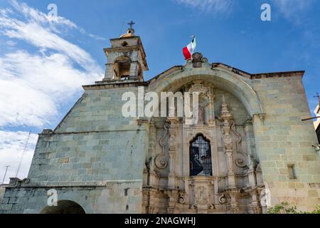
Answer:
[[[55,117],[59,105],[68,103],[81,85],[101,79],[103,71],[89,53],[56,33],[75,28],[73,22],[59,18],[48,26],[45,14],[26,4],[13,4],[17,12],[0,10],[0,33],[26,41],[38,51],[14,46],[16,50],[0,56],[0,126],[41,128]],[[17,19],[21,15],[23,20]]]

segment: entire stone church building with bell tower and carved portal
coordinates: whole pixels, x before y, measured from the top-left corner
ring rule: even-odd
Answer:
[[[320,204],[317,137],[304,71],[247,73],[194,53],[144,81],[134,29],[112,38],[105,76],[54,130],[43,130],[28,177],[11,178],[0,213],[265,213]],[[199,94],[198,123],[124,117],[124,92]],[[138,95],[137,95],[138,96]],[[56,192],[58,206],[50,206]],[[53,194],[54,195],[54,194]]]

